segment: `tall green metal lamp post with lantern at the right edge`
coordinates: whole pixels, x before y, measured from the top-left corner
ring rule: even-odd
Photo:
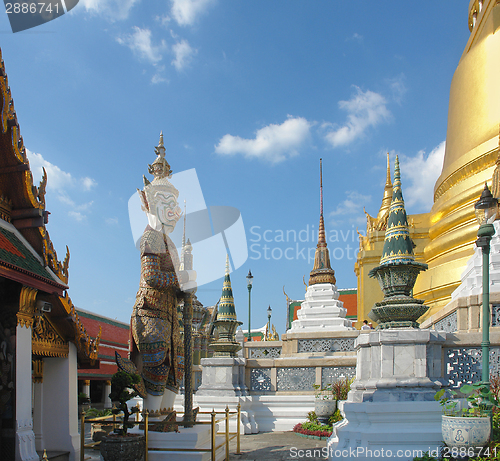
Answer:
[[[481,341],[483,369],[481,381],[487,392],[490,388],[490,241],[495,234],[493,221],[498,210],[498,200],[491,195],[487,184],[484,185],[481,197],[474,208],[479,223],[476,245],[481,248],[483,253],[483,340]]]

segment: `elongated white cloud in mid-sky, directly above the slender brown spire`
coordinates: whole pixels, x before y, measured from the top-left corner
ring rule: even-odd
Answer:
[[[310,135],[312,123],[302,117],[291,117],[281,125],[271,124],[257,130],[254,139],[224,135],[215,152],[221,155],[242,154],[246,158],[259,158],[279,163],[298,155],[299,148]]]

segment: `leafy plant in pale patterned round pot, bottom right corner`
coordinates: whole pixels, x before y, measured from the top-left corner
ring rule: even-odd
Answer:
[[[488,444],[491,435],[491,411],[498,406],[498,398],[483,383],[464,384],[460,393],[466,396],[466,408],[458,405],[458,393],[449,390],[453,398],[441,389],[434,398],[443,407],[441,431],[443,440],[450,448],[469,449],[482,448]]]

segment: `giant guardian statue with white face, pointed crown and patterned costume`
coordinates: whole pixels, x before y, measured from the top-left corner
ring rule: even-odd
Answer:
[[[184,364],[177,316],[179,257],[168,237],[182,213],[179,192],[168,180],[172,171],[163,134],[155,151],[158,157],[148,170],[154,179],[144,177],[144,190],[138,190],[149,225],[140,240],[141,280],[131,318],[130,359],[116,354],[120,369],[140,373],[142,380],[134,387],[144,398],[177,393]]]

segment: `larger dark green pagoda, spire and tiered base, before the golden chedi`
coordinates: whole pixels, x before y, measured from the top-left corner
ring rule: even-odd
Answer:
[[[415,261],[414,247],[408,230],[399,159],[396,156],[382,258],[380,265],[368,274],[377,278],[384,292],[384,299],[375,303],[368,314],[378,323],[377,328],[418,328],[417,319],[429,309],[423,300],[411,296],[418,274],[427,269],[427,264]]]

